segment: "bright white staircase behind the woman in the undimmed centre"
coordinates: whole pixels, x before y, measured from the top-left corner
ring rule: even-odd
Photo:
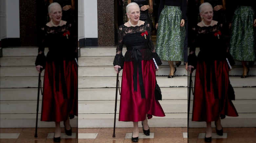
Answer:
[[[78,58],[78,127],[112,128],[114,126],[117,72],[113,68],[116,47],[80,48]],[[126,48],[123,48],[123,54]],[[175,78],[167,78],[169,65],[163,62],[157,71],[157,81],[162,91],[160,104],[165,117],[149,119],[150,127],[187,127],[187,71],[182,64]],[[166,75],[166,76],[161,76]],[[121,86],[122,70],[119,73]],[[117,95],[116,127],[133,127],[131,122],[119,122]],[[140,124],[139,124],[140,125]]]

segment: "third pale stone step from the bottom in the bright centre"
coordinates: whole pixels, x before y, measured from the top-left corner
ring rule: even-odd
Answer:
[[[187,87],[162,87],[162,100],[187,100]],[[78,88],[79,101],[116,99],[116,88]],[[2,97],[1,97],[2,100]],[[117,100],[120,100],[117,91]]]

